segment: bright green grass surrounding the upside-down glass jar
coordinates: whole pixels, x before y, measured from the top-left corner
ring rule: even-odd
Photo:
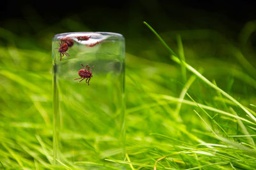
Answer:
[[[24,39],[1,29],[0,169],[255,168],[250,24],[241,31],[240,43],[209,30],[199,31],[204,33],[199,37],[195,31],[163,32],[161,38],[146,25],[157,39],[146,43],[145,51],[126,53],[125,160],[92,157],[75,165],[57,160],[58,166],[52,164],[51,51],[45,48],[53,34]],[[168,63],[146,59],[161,60],[157,48],[169,52]],[[95,140],[93,134],[84,139],[80,153],[88,150],[86,140]],[[97,141],[90,147],[101,152]]]

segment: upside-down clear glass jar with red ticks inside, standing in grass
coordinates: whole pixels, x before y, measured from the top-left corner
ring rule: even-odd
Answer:
[[[54,162],[93,169],[124,158],[124,47],[111,32],[52,39]]]

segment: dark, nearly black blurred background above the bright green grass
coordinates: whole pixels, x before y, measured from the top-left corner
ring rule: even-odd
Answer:
[[[60,32],[119,32],[125,37],[127,52],[141,56],[136,52],[152,48],[154,45],[148,44],[156,40],[143,21],[159,33],[210,29],[236,42],[244,24],[255,20],[255,4],[255,1],[4,1],[0,7],[0,27],[24,39],[29,36],[51,39]],[[252,34],[252,44],[254,37]],[[172,39],[166,41],[172,46]],[[17,44],[20,48],[31,48],[26,45]],[[49,51],[51,44],[43,43],[39,48]],[[156,51],[168,58],[163,46]]]

